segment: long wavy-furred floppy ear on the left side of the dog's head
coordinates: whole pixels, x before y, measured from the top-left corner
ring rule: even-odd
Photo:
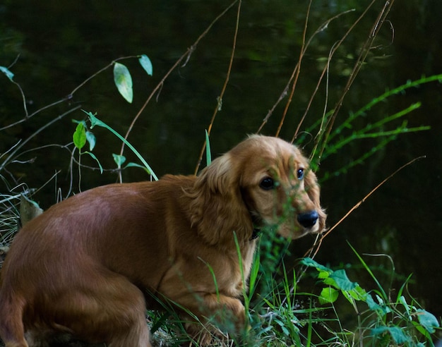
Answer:
[[[201,171],[188,195],[191,223],[205,242],[232,247],[234,232],[240,243],[249,240],[251,216],[241,197],[239,169],[229,153]]]

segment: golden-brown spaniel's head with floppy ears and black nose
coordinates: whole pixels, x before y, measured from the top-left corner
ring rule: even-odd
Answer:
[[[231,238],[232,231],[247,238],[263,226],[275,226],[292,239],[325,227],[308,159],[279,138],[253,135],[244,140],[205,168],[195,188],[193,223],[205,224],[200,233],[213,243]],[[198,195],[204,202],[196,203]]]

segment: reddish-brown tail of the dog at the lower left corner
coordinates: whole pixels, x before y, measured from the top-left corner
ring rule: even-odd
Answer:
[[[0,336],[6,347],[28,347],[23,327],[25,299],[12,288],[0,287]]]

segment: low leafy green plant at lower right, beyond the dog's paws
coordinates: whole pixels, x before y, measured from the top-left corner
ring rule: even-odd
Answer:
[[[352,250],[378,288],[367,292],[357,282],[350,281],[345,269],[333,270],[311,258],[304,258],[301,264],[316,269],[318,280],[325,285],[318,302],[321,305],[333,304],[342,295],[359,319],[358,339],[361,343],[364,341],[364,346],[424,346],[422,341],[432,346],[431,334],[440,324],[430,312],[415,306],[416,303],[407,303],[403,292],[410,276],[393,300],[387,294],[389,290],[381,286],[362,257],[354,248]],[[360,311],[358,303],[364,303],[366,308]]]

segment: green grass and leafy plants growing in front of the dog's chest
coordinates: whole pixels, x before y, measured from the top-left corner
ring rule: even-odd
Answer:
[[[360,276],[364,276],[362,271],[367,272],[376,288],[367,291],[352,281],[345,269],[331,269],[309,257],[300,260],[298,276],[283,261],[280,271],[274,272],[275,267],[265,269],[263,264],[280,260],[271,257],[266,262],[268,254],[258,250],[249,291],[244,292],[249,327],[240,334],[241,339],[226,331],[223,341],[215,341],[219,346],[434,346],[432,336],[440,324],[408,292],[411,276],[395,292],[390,286],[393,281],[387,286],[381,284],[369,264],[352,250],[362,265],[357,272]],[[391,276],[395,276],[394,271]],[[298,293],[297,283],[309,277],[314,277],[316,290]],[[153,317],[153,331],[162,334],[162,327],[182,324],[173,310],[169,312],[168,318],[164,313]],[[178,334],[180,339],[176,331],[169,330],[167,338],[176,343],[191,342],[182,334]],[[162,341],[162,346],[178,344]]]

